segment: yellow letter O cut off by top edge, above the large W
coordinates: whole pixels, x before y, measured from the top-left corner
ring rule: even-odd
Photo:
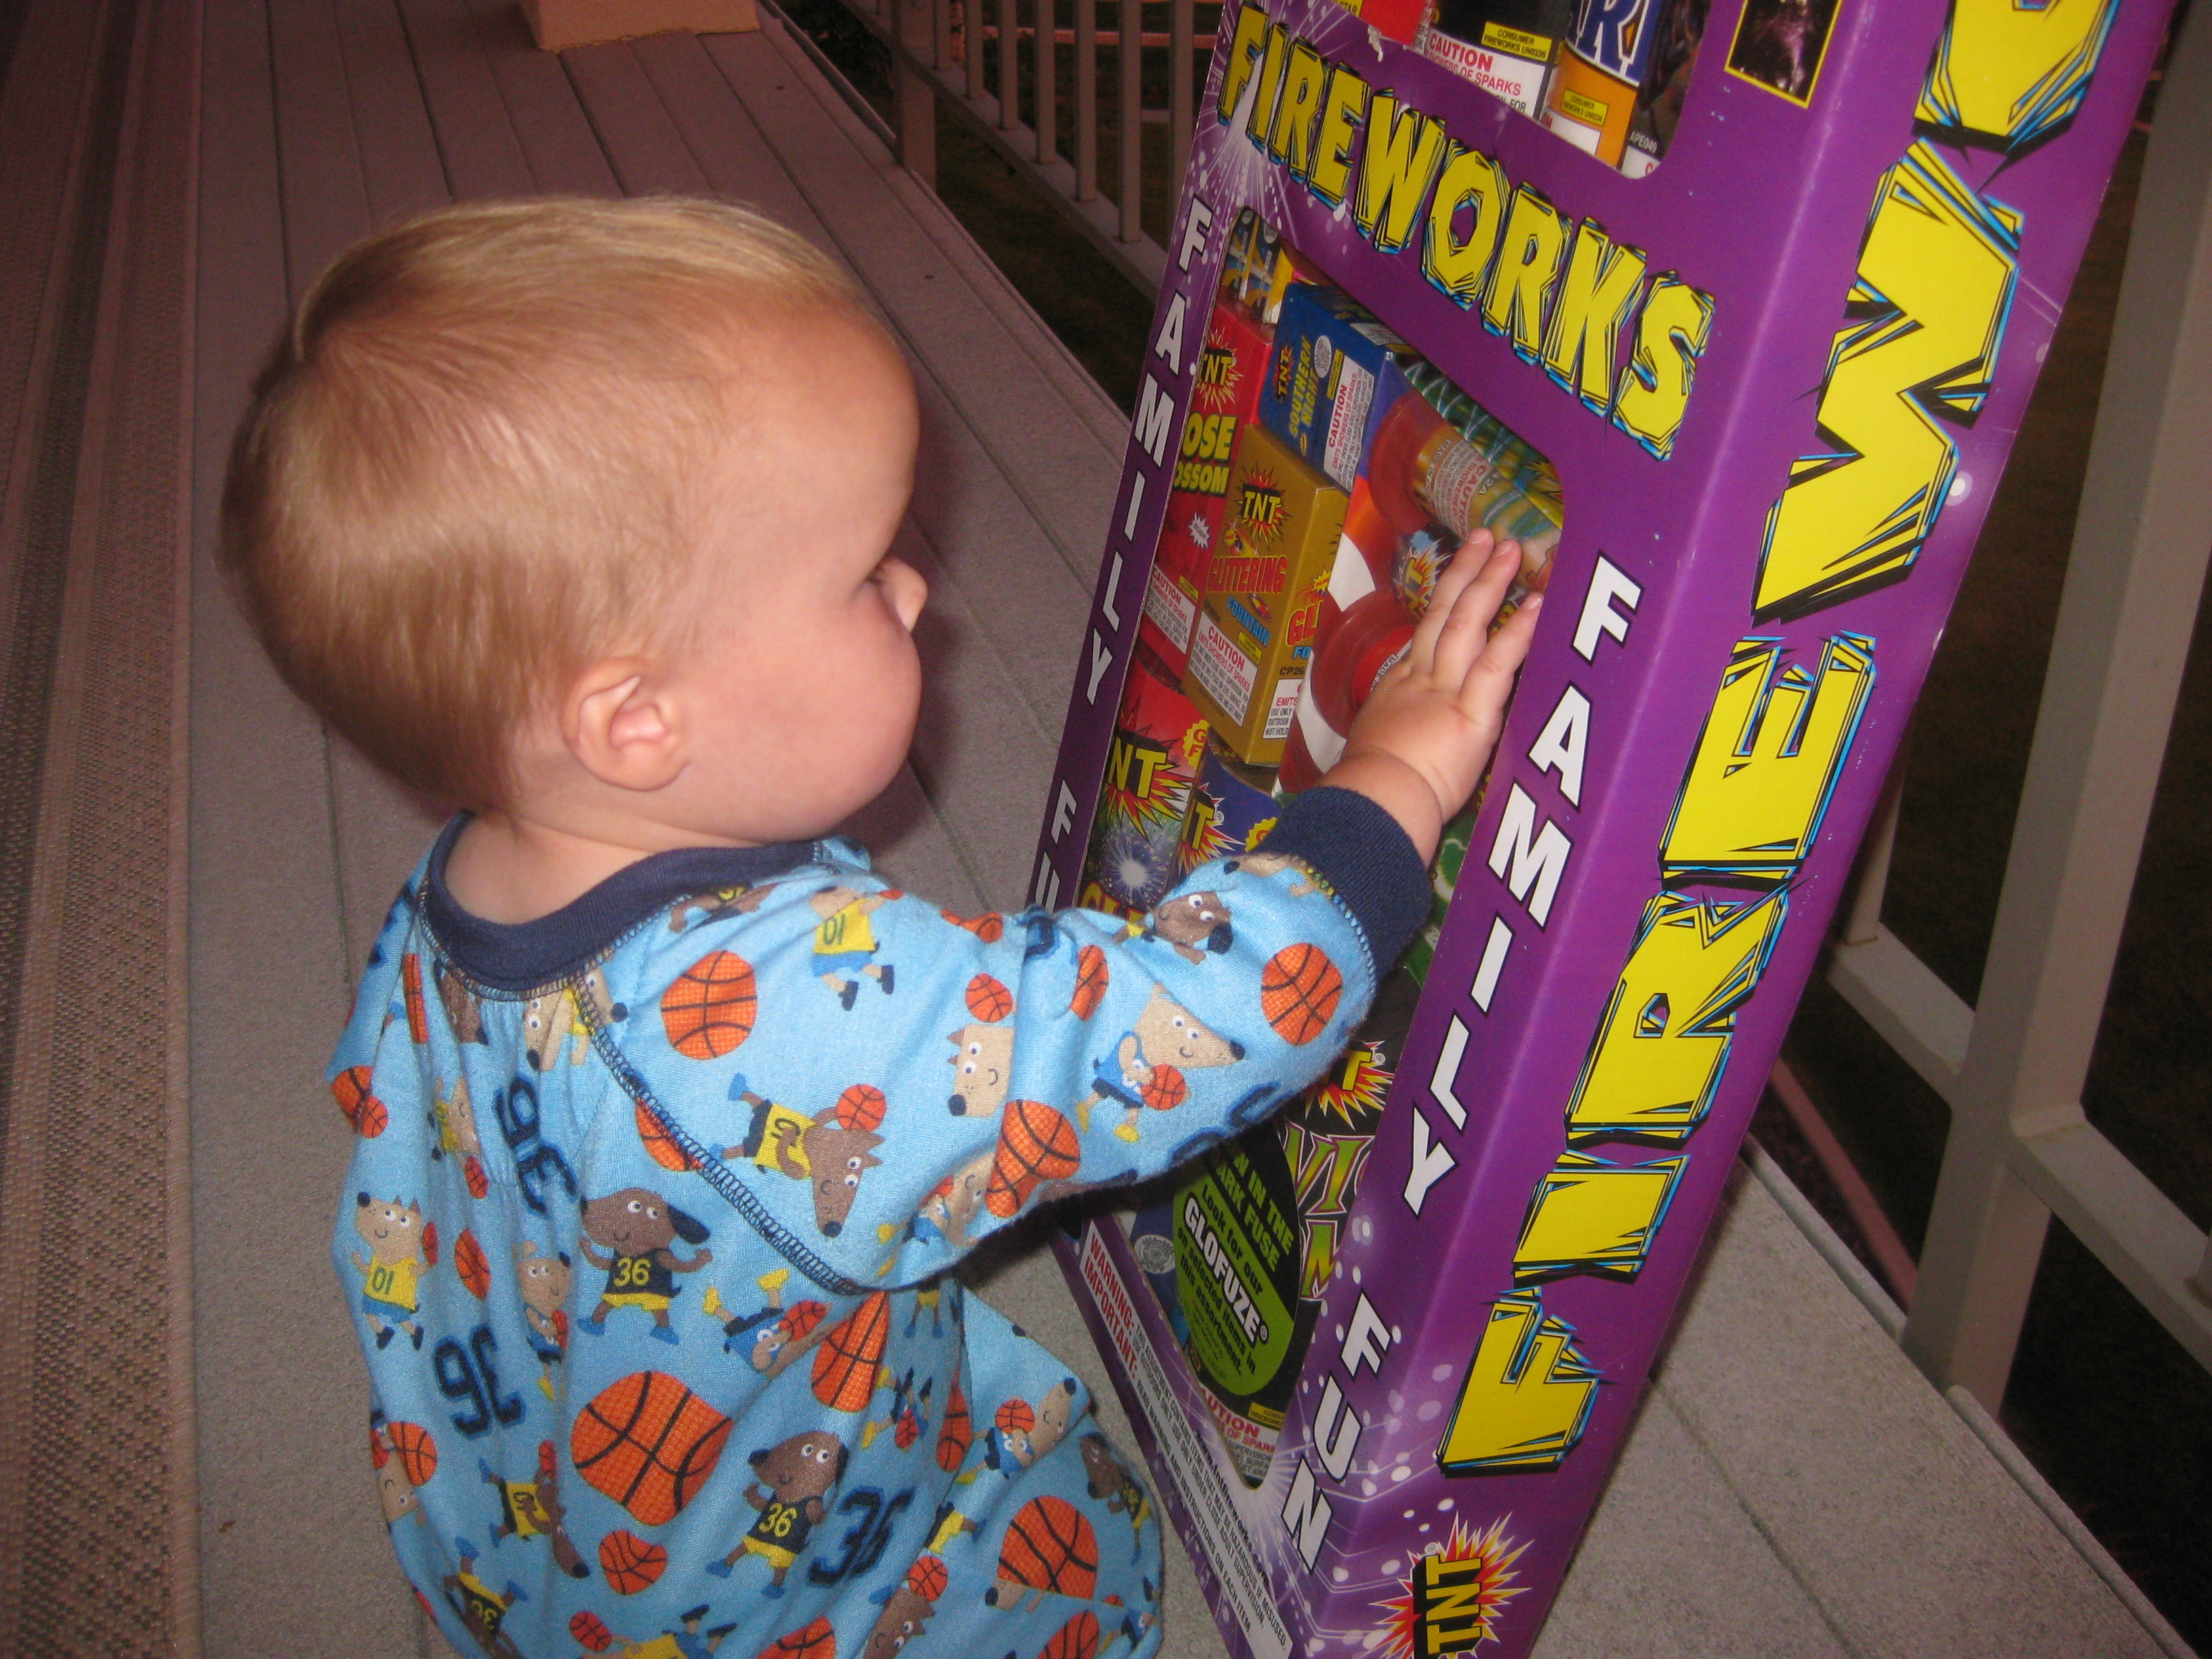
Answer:
[[[1955,0],[1916,119],[1942,142],[2020,150],[2088,93],[2119,0]]]

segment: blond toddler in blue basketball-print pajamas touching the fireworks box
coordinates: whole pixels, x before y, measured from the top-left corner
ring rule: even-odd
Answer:
[[[1179,889],[1228,949],[962,918],[830,836],[914,732],[914,453],[852,283],[695,201],[400,226],[257,385],[226,568],[285,681],[460,805],[332,1088],[383,1513],[462,1648],[1159,1646],[1141,1484],[947,1274],[1318,1075],[1537,606],[1486,637],[1517,553],[1469,546],[1325,787]]]

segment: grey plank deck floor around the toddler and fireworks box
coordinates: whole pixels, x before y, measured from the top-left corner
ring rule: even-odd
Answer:
[[[774,29],[549,58],[511,0],[204,0],[192,611],[192,1108],[208,1655],[438,1652],[389,1566],[363,1376],[323,1272],[347,1157],[330,1033],[429,821],[301,714],[206,566],[243,387],[354,237],[458,197],[684,190],[768,208],[876,296],[920,380],[902,551],[929,703],[858,832],[949,905],[1020,900],[1126,436],[949,215]],[[1787,1199],[1787,1192],[1783,1194]],[[1057,1276],[989,1294],[1099,1376]],[[1110,1398],[1108,1427],[1119,1429]],[[1170,1571],[1168,1652],[1219,1652]],[[1540,1648],[2152,1655],[1759,1181]],[[743,1657],[739,1657],[743,1659]]]

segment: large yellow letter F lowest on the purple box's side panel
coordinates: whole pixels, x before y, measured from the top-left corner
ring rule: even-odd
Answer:
[[[1575,1329],[1544,1312],[1542,1292],[1500,1296],[1436,1464],[1447,1475],[1557,1469],[1590,1422],[1597,1380]]]

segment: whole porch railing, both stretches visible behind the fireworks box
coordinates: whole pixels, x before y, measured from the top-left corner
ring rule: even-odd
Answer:
[[[1159,288],[1166,254],[1139,215],[1144,128],[1166,124],[1172,186],[1212,49],[1194,0],[1152,0],[1155,15],[1168,7],[1164,33],[1146,33],[1139,0],[841,2],[889,46],[883,133],[907,168],[933,181],[942,100],[1141,290]],[[1938,1387],[1964,1387],[1989,1411],[2004,1398],[2053,1214],[2212,1369],[2212,1243],[2081,1110],[2212,551],[2205,13],[2190,9],[2159,95],[1980,1006],[1880,925],[1902,779],[1869,832],[1827,960],[1829,982],[1951,1106],[1900,1340]],[[1148,58],[1155,84],[1166,71],[1164,108],[1144,104]],[[1073,155],[1062,153],[1064,113]]]

